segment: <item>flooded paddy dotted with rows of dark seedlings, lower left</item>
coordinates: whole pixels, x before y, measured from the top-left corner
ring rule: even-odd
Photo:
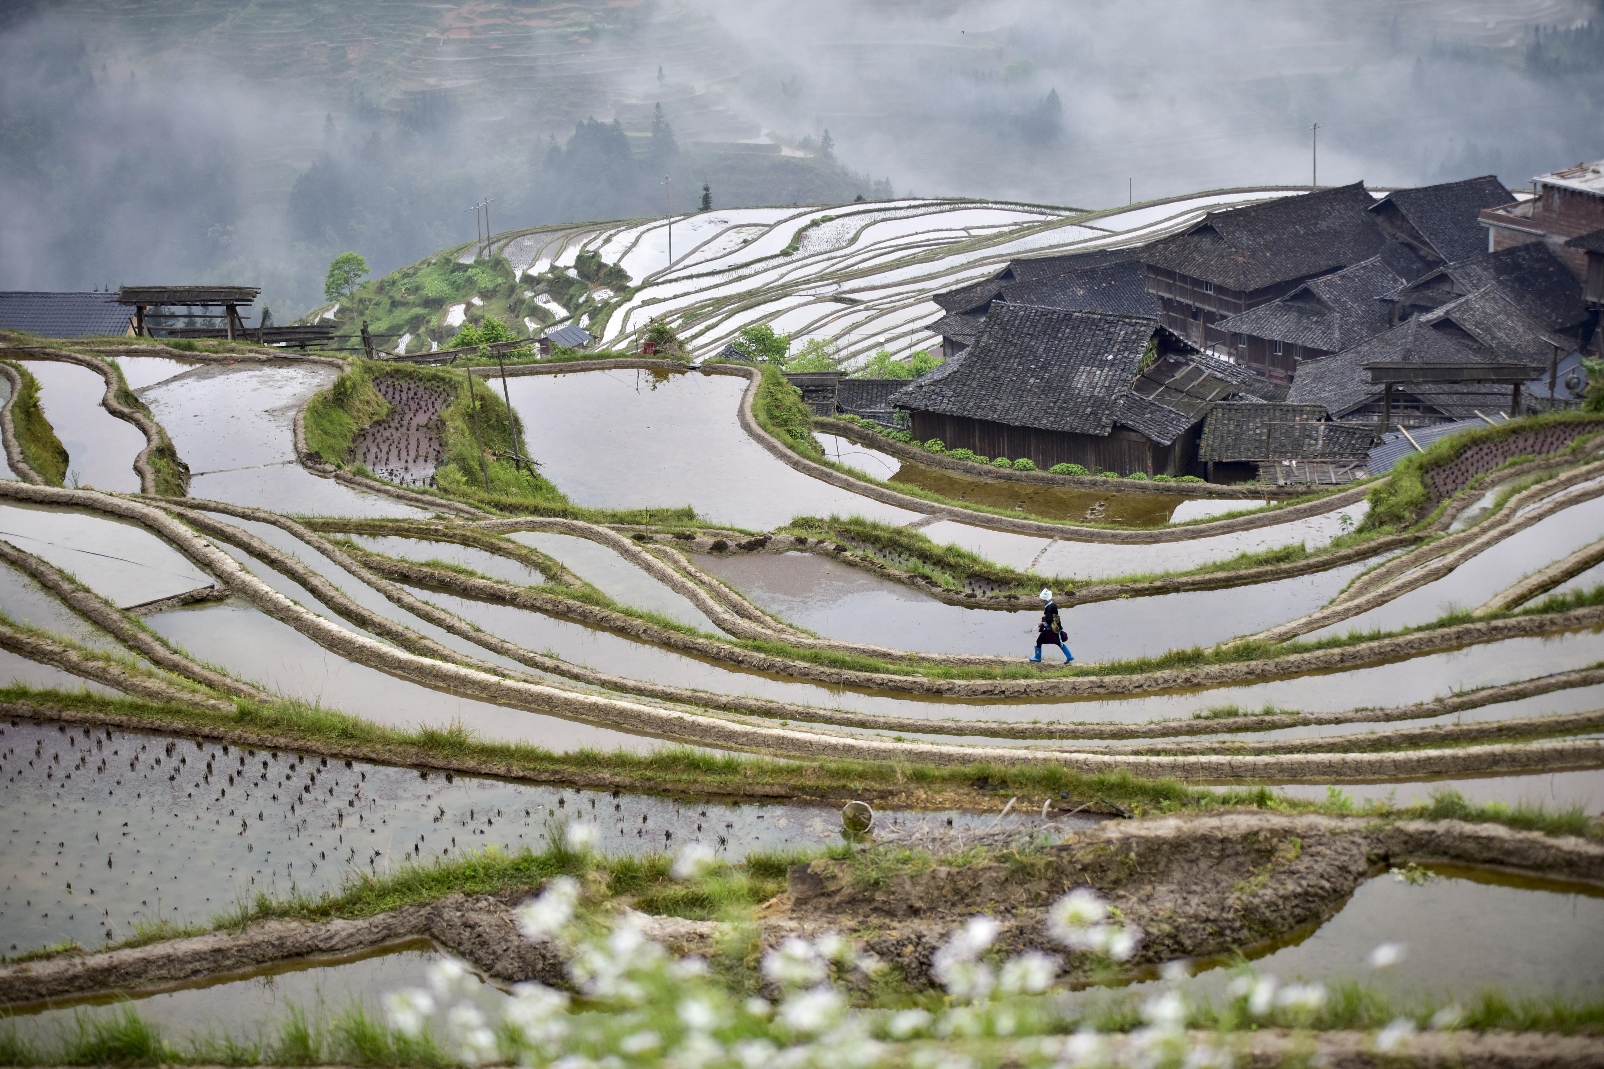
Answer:
[[[30,720],[0,731],[0,947],[11,950],[95,946],[159,918],[204,923],[257,891],[338,891],[358,872],[486,846],[541,851],[552,819],[593,822],[606,854],[703,841],[738,859],[840,841],[834,806],[585,792]],[[879,827],[948,819],[983,829],[994,816],[887,813]]]

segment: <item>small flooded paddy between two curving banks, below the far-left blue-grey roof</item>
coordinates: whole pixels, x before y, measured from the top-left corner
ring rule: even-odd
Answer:
[[[67,486],[138,494],[133,458],[144,449],[144,434],[101,407],[106,380],[61,361],[24,365],[38,380],[38,407],[67,450]]]

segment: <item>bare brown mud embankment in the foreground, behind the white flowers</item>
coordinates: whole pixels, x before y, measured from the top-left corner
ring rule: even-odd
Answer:
[[[1604,886],[1604,845],[1458,821],[1381,824],[1359,817],[1230,813],[1104,824],[1017,859],[909,867],[869,880],[853,861],[796,865],[788,889],[759,909],[759,938],[837,931],[919,987],[930,958],[969,917],[1001,923],[1003,954],[1051,947],[1047,907],[1073,886],[1096,888],[1144,939],[1131,968],[1251,949],[1330,917],[1368,877],[1405,862],[1453,862]],[[510,904],[528,896],[464,898],[361,920],[269,920],[144,947],[0,966],[0,1002],[24,1003],[138,989],[428,938],[499,981],[560,984],[561,957],[518,934]],[[648,934],[677,950],[707,949],[712,922],[653,918]],[[1067,979],[1089,978],[1071,958]]]

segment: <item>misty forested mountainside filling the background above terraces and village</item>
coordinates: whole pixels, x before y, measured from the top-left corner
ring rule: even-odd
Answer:
[[[1601,59],[1599,0],[11,3],[0,287],[253,284],[284,322],[480,197],[1105,207],[1307,183],[1310,123],[1322,184],[1522,184],[1604,155]]]

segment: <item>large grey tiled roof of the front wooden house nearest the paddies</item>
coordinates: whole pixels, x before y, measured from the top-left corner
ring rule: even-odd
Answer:
[[[1107,434],[1158,325],[1139,316],[996,305],[974,346],[892,394],[903,409]]]

